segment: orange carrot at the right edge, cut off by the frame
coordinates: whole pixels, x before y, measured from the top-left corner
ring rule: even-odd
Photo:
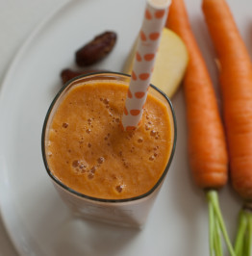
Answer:
[[[239,35],[233,14],[225,0],[203,0],[202,9],[219,60],[219,83],[230,156],[231,181],[245,202],[252,200],[252,64]],[[251,210],[240,213],[245,219],[245,236],[252,236]],[[240,225],[241,225],[240,222]],[[238,255],[245,238],[238,234]],[[238,243],[241,242],[239,245]],[[250,246],[251,240],[248,243]],[[246,249],[247,250],[247,249]],[[248,252],[249,253],[249,252]]]

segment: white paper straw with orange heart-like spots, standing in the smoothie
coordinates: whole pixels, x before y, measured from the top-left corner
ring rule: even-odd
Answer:
[[[148,0],[121,124],[135,130],[141,120],[170,0]]]

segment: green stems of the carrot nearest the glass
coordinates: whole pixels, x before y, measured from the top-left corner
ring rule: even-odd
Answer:
[[[221,240],[220,240],[220,233],[221,233],[223,235],[225,243],[227,244],[227,248],[229,250],[230,255],[236,256],[235,250],[232,246],[232,243],[230,242],[224,220],[222,218],[222,214],[221,214],[219,203],[218,203],[217,192],[213,191],[213,190],[208,191],[207,198],[208,198],[209,204],[211,204],[214,209],[214,235],[211,235],[211,236],[214,236],[215,255],[222,255]],[[211,232],[211,230],[210,230],[210,232]],[[216,232],[218,232],[218,233],[216,233]],[[221,253],[221,254],[219,254],[219,253]]]

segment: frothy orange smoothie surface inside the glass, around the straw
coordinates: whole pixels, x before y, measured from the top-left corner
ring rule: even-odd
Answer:
[[[76,192],[124,199],[149,192],[167,166],[173,132],[167,107],[148,95],[139,128],[120,126],[128,87],[115,80],[79,84],[52,117],[46,145],[51,172]]]

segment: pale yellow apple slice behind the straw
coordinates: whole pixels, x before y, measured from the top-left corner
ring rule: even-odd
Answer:
[[[138,39],[126,60],[123,72],[131,74]],[[171,30],[164,28],[156,57],[151,84],[172,97],[178,90],[189,62],[189,54],[184,41]]]

